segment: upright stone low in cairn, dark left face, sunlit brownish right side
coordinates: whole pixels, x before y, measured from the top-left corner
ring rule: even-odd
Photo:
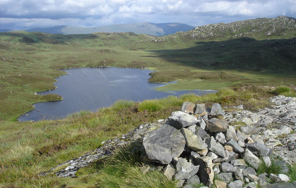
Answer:
[[[214,171],[213,163],[210,157],[198,157],[194,159],[194,163],[199,165],[199,171],[197,172],[200,180],[208,186],[213,185]]]

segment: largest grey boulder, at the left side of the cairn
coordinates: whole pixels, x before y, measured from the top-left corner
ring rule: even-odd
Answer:
[[[185,144],[183,134],[170,125],[163,125],[143,138],[148,158],[162,164],[169,164],[173,157],[179,157]]]

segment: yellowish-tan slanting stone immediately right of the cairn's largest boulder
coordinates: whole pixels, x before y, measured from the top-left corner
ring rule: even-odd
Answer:
[[[193,151],[202,151],[208,147],[198,135],[193,134],[190,130],[181,128],[181,133],[185,137],[186,146]]]

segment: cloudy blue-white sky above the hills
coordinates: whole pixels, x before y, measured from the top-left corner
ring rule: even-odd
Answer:
[[[277,16],[296,0],[0,0],[0,29],[181,22],[191,26]]]

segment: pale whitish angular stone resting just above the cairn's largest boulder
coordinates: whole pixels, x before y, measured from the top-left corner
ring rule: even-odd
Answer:
[[[170,125],[176,129],[181,129],[182,127],[187,127],[199,122],[196,117],[181,111],[173,112],[167,119]]]

